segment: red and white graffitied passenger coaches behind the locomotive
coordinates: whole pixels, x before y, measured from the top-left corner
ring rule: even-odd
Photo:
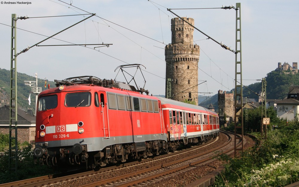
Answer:
[[[219,134],[219,117],[215,112],[171,99],[158,99],[162,103],[164,124],[170,142],[202,143]]]

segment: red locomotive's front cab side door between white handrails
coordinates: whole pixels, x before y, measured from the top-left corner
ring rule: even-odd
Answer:
[[[110,131],[109,131],[109,116],[108,116],[108,102],[106,100],[106,93],[100,92],[100,111],[101,111],[101,123],[102,129],[104,130],[104,137],[105,139],[110,138]]]

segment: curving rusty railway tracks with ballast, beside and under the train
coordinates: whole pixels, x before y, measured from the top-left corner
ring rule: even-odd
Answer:
[[[156,180],[163,180],[167,176],[172,176],[176,172],[185,172],[192,170],[199,165],[212,162],[214,157],[219,153],[226,153],[234,149],[231,143],[233,136],[227,138],[228,141],[221,147],[216,146],[210,151],[194,154],[194,152],[212,146],[215,141],[208,142],[201,146],[195,146],[184,151],[162,155],[155,158],[142,160],[141,162],[125,163],[120,166],[113,166],[100,169],[99,171],[86,171],[79,174],[57,177],[54,175],[36,177],[33,179],[16,181],[12,183],[2,184],[1,186],[148,186],[150,183],[155,183]],[[219,141],[219,140],[217,140]],[[230,148],[227,146],[232,145]],[[215,152],[218,150],[217,152]],[[190,156],[186,156],[186,155]],[[174,157],[183,158],[173,159]],[[173,161],[165,161],[165,160]],[[143,166],[146,165],[146,166]],[[149,167],[154,165],[152,167]],[[145,168],[143,168],[145,167]],[[136,169],[137,168],[137,169]],[[126,173],[126,174],[123,174]],[[96,179],[99,176],[103,179]],[[106,177],[105,177],[106,176]],[[162,176],[162,177],[161,177]],[[153,180],[155,179],[155,180]],[[96,181],[97,180],[97,181]],[[88,181],[88,184],[86,183]],[[147,182],[144,182],[147,181]],[[86,184],[85,184],[86,183]]]

